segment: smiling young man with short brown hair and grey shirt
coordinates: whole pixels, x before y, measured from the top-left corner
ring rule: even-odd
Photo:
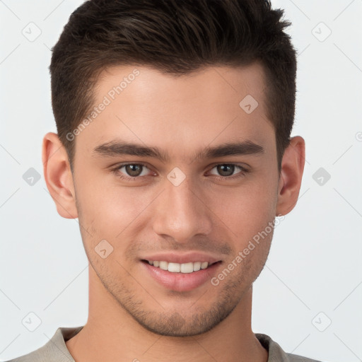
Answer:
[[[313,361],[251,329],[252,284],[304,167],[282,15],[263,0],[74,11],[42,158],[58,213],[79,221],[88,321],[13,361]]]

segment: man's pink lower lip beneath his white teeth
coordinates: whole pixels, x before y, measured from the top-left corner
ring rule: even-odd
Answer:
[[[216,274],[216,269],[221,264],[217,262],[206,269],[192,271],[192,273],[172,273],[158,267],[153,267],[146,262],[141,262],[148,270],[148,273],[156,279],[159,284],[173,291],[192,291],[202,286]]]

